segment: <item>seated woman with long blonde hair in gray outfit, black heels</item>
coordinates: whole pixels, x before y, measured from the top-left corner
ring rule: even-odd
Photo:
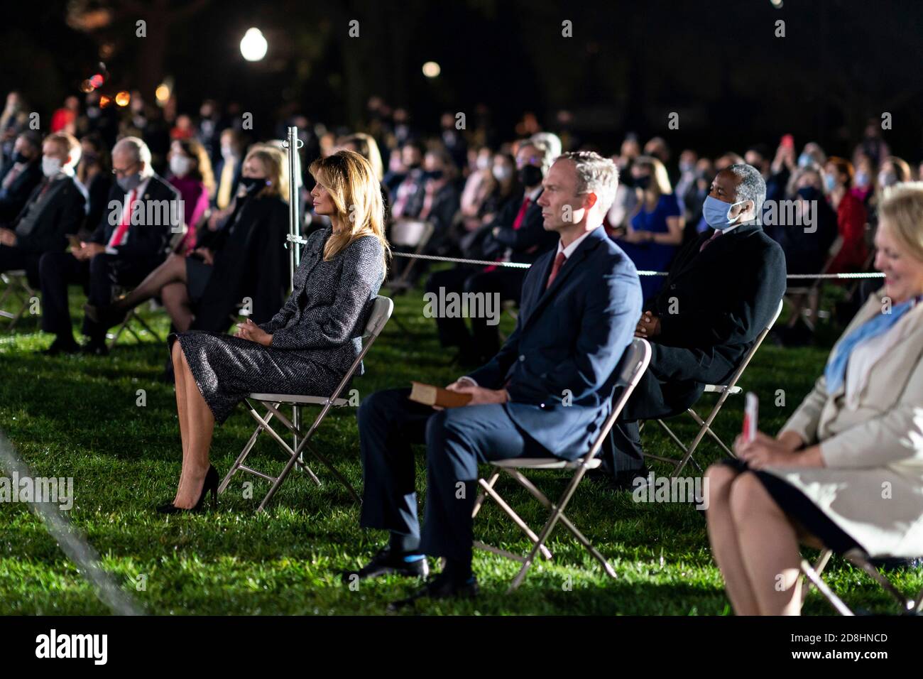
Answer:
[[[372,167],[339,151],[311,164],[314,209],[330,226],[308,236],[294,290],[268,322],[249,319],[234,336],[171,334],[183,471],[163,513],[198,510],[218,473],[211,436],[246,394],[330,394],[362,349],[371,300],[385,275],[381,189]]]

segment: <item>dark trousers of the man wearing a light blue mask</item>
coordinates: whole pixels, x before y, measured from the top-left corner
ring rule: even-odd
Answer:
[[[644,466],[640,420],[679,415],[699,400],[703,384],[720,383],[734,371],[724,359],[711,359],[698,349],[656,342],[651,349],[648,369],[603,444],[600,456],[612,474]]]

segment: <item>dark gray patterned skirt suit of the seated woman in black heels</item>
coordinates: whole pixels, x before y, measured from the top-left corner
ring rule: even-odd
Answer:
[[[355,239],[324,261],[327,227],[308,236],[294,291],[261,327],[270,346],[216,333],[174,333],[215,422],[246,394],[331,394],[362,350],[362,333],[384,279],[381,242]],[[360,369],[361,372],[361,369]]]

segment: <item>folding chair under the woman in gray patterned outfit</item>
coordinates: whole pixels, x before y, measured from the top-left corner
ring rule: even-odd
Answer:
[[[228,471],[227,476],[222,480],[221,485],[218,487],[218,492],[222,493],[227,489],[228,483],[230,483],[231,478],[238,471],[245,471],[254,476],[258,476],[261,479],[267,479],[271,482],[270,491],[266,493],[266,497],[263,498],[263,501],[259,503],[257,511],[262,511],[266,508],[267,503],[270,502],[272,496],[276,494],[276,491],[279,490],[279,487],[282,485],[282,481],[289,475],[289,472],[292,471],[292,467],[298,465],[303,468],[307,474],[314,480],[315,483],[319,485],[320,479],[318,476],[311,471],[304,460],[302,459],[302,453],[307,450],[312,455],[318,458],[318,460],[335,476],[345,487],[346,490],[354,497],[356,502],[361,502],[359,499],[359,494],[355,491],[350,482],[342,476],[342,474],[334,467],[330,460],[325,456],[318,453],[318,451],[307,443],[314,435],[314,432],[318,429],[318,426],[327,417],[330,408],[337,406],[346,406],[349,402],[345,398],[341,398],[342,391],[349,384],[350,380],[353,379],[356,370],[359,370],[359,366],[362,363],[362,359],[368,353],[368,350],[375,343],[375,340],[378,339],[378,335],[381,333],[381,330],[385,327],[385,324],[388,322],[391,316],[391,311],[394,309],[394,302],[392,302],[388,297],[375,297],[372,303],[372,309],[369,312],[368,321],[366,321],[366,329],[363,333],[363,347],[362,351],[359,352],[359,356],[353,361],[353,365],[350,366],[350,369],[343,376],[343,379],[337,385],[336,389],[333,390],[333,394],[329,396],[315,396],[315,395],[304,395],[304,394],[250,394],[246,397],[246,406],[249,409],[250,415],[257,420],[257,429],[254,430],[253,435],[250,437],[250,440],[247,441],[244,446],[244,450],[241,451],[240,455],[237,455],[237,459],[234,461],[234,467],[231,467],[231,470]],[[267,408],[266,415],[260,416],[257,412],[255,404],[261,404]],[[293,408],[293,418],[290,420],[282,415],[280,411],[280,406],[292,406]],[[314,422],[311,426],[304,430],[301,426],[300,412],[302,406],[321,406],[318,417],[314,419]],[[286,443],[282,436],[276,431],[273,430],[270,426],[270,420],[276,418],[278,421],[282,422],[282,425],[286,430],[289,430],[294,434],[294,446]],[[252,467],[247,467],[244,463],[246,462],[246,457],[249,455],[250,450],[253,448],[254,444],[257,443],[258,436],[261,431],[266,431],[272,437],[272,439],[279,444],[282,450],[288,455],[288,461],[285,463],[285,467],[282,468],[282,473],[278,477],[270,476],[261,471],[257,471]]]

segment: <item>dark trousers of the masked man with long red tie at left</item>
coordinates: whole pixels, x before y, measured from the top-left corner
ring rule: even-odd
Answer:
[[[39,261],[42,330],[56,334],[64,342],[73,340],[67,285],[84,285],[87,289],[87,302],[100,307],[112,302],[113,285],[138,285],[161,262],[162,259],[154,258],[128,262],[106,253],[87,261],[78,260],[69,252],[46,252]],[[89,318],[83,319],[81,332],[90,337],[91,342],[102,342],[106,330],[108,328],[103,328]]]

